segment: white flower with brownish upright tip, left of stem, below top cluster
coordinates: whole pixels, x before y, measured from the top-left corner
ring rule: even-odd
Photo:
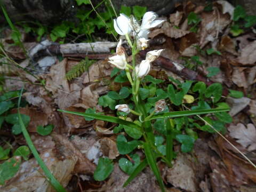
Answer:
[[[127,65],[125,50],[122,46],[122,39],[120,39],[119,43],[116,46],[116,55],[108,58],[111,64],[116,66],[119,69],[125,69]]]

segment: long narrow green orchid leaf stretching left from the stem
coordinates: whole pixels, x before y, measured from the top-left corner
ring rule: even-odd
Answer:
[[[90,114],[90,113],[81,113],[81,112],[67,111],[67,110],[62,110],[62,109],[58,109],[58,111],[61,111],[63,113],[74,114],[74,115],[80,115],[80,116],[83,116],[83,117],[95,118],[95,119],[98,119],[98,120],[107,121],[107,122],[111,122],[111,123],[127,125],[127,126],[130,126],[132,128],[135,128],[135,129],[138,129],[139,131],[141,131],[141,127],[139,125],[137,125],[133,122],[125,121],[125,120],[123,120],[121,118],[118,118],[118,117],[112,117],[112,116],[107,116],[107,115],[99,115],[99,114]]]

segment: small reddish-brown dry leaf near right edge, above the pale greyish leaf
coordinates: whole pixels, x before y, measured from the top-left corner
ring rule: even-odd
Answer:
[[[233,67],[233,73],[232,73],[232,81],[238,86],[238,87],[244,87],[247,88],[247,81],[245,77],[244,70],[246,68],[244,67]]]

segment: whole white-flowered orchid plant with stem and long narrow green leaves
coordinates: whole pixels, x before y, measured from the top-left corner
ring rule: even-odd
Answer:
[[[172,166],[172,161],[175,156],[173,151],[173,130],[174,130],[174,117],[183,117],[190,115],[199,115],[199,114],[208,114],[208,113],[219,113],[223,111],[227,111],[228,109],[204,109],[204,110],[185,110],[185,111],[172,111],[164,113],[165,109],[168,108],[166,105],[166,101],[164,99],[159,99],[155,102],[155,107],[151,110],[148,110],[146,107],[145,101],[141,99],[141,94],[139,94],[139,89],[142,86],[141,82],[143,78],[148,75],[151,63],[153,63],[157,57],[161,54],[163,50],[153,50],[148,51],[146,54],[146,59],[142,60],[139,65],[136,65],[135,55],[140,50],[145,50],[148,48],[149,39],[148,34],[151,28],[155,28],[160,26],[164,20],[158,19],[157,14],[149,11],[143,15],[143,19],[141,25],[139,22],[131,15],[131,17],[127,17],[125,14],[120,14],[120,16],[114,20],[114,28],[116,32],[123,36],[127,44],[131,47],[132,50],[132,62],[127,62],[126,52],[124,47],[122,46],[122,39],[117,44],[116,47],[116,55],[109,58],[109,63],[114,65],[116,68],[124,70],[131,84],[131,94],[132,94],[132,102],[133,108],[131,108],[128,104],[120,104],[116,105],[115,109],[118,111],[122,111],[126,114],[126,117],[129,114],[133,114],[131,117],[137,117],[135,119],[131,118],[123,118],[123,117],[113,117],[106,116],[95,113],[78,113],[74,111],[66,111],[59,110],[64,113],[81,115],[86,118],[94,118],[100,119],[103,121],[116,123],[119,125],[123,125],[129,130],[129,132],[136,132],[136,136],[129,134],[129,136],[133,137],[133,141],[127,142],[126,138],[123,134],[118,134],[117,137],[117,148],[119,150],[119,154],[124,155],[131,153],[131,150],[127,150],[127,148],[131,147],[132,150],[135,148],[142,149],[145,153],[146,158],[143,161],[139,161],[138,165],[135,167],[133,171],[130,172],[130,177],[124,183],[124,187],[129,184],[147,165],[149,165],[150,169],[154,172],[156,180],[159,183],[159,187],[162,191],[165,191],[165,186],[163,183],[163,179],[161,177],[161,173],[159,172],[157,161],[162,160],[165,162],[167,166]],[[124,39],[123,38],[123,39]],[[189,97],[186,95],[185,97]],[[186,99],[186,98],[185,98]],[[165,128],[166,129],[166,147],[165,151],[161,151],[156,147],[156,138],[155,138],[155,130],[153,127],[153,123],[156,119],[165,119]],[[125,129],[126,130],[126,129]],[[125,132],[127,132],[127,130]],[[138,139],[141,139],[138,141]],[[118,144],[119,143],[119,144]],[[126,143],[126,148],[118,147],[120,143]],[[108,159],[109,160],[109,159]],[[110,160],[109,160],[110,161]],[[109,163],[109,161],[105,161],[105,163]],[[102,164],[103,161],[99,162]],[[99,166],[99,165],[98,165]],[[109,170],[113,170],[113,166],[109,168]],[[99,172],[100,169],[96,169],[95,172]],[[108,175],[111,171],[108,171]],[[94,173],[95,174],[95,173]],[[104,177],[103,179],[106,179]],[[95,178],[95,177],[94,177]],[[100,180],[100,179],[98,179]]]

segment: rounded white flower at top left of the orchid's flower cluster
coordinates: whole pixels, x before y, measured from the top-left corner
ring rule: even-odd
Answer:
[[[130,19],[125,14],[120,13],[117,19],[114,19],[114,28],[119,35],[126,35],[131,33]]]

